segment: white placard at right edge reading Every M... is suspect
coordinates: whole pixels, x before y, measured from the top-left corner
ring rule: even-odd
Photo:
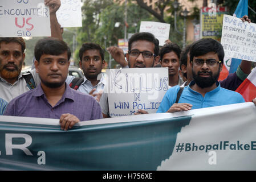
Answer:
[[[256,24],[224,15],[221,44],[226,57],[256,62]]]

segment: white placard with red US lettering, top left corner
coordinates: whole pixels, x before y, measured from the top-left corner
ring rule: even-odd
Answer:
[[[0,37],[51,36],[44,0],[0,1]]]

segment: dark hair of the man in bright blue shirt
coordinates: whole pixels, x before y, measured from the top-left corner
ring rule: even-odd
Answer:
[[[215,52],[218,55],[218,59],[223,63],[224,49],[220,42],[212,38],[200,39],[194,42],[189,50],[190,62],[193,61],[194,56],[202,56],[208,52]]]

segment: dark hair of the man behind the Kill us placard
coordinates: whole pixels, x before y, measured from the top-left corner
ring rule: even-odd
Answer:
[[[133,34],[128,42],[128,51],[131,51],[132,43],[137,40],[147,40],[148,42],[152,42],[155,44],[154,53],[155,55],[159,55],[159,40],[155,38],[155,36],[149,32],[139,32]]]

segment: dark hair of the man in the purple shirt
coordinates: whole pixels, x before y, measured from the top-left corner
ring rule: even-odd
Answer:
[[[66,51],[70,60],[71,51],[66,42],[57,38],[44,38],[36,43],[34,54],[35,59],[39,61],[42,55],[60,55]]]

